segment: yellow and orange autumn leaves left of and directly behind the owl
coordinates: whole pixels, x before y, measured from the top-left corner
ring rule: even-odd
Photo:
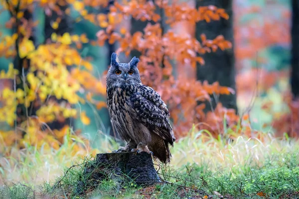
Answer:
[[[101,79],[92,75],[95,66],[90,59],[83,58],[78,52],[86,43],[99,46],[104,46],[106,42],[117,43],[117,54],[123,53],[128,57],[133,50],[142,54],[139,63],[142,81],[155,89],[167,103],[176,137],[185,136],[192,124],[198,124],[199,129],[208,129],[214,137],[223,134],[228,128],[237,133],[244,129],[244,132],[251,133],[249,126],[243,128],[235,110],[226,109],[221,103],[214,111],[203,111],[205,107],[201,101],[210,100],[210,95],[213,94],[235,95],[234,90],[222,87],[217,82],[209,85],[185,76],[174,76],[175,70],[184,71],[183,67],[186,65],[194,70],[198,63],[204,65],[205,61],[201,57],[203,54],[232,47],[231,41],[227,41],[222,35],[208,40],[202,34],[199,41],[194,35],[177,34],[173,30],[175,24],[181,21],[195,26],[200,21],[209,23],[220,18],[228,19],[230,16],[221,7],[210,5],[196,9],[176,1],[170,4],[166,0],[131,0],[115,1],[109,6],[108,13],[95,13],[88,8],[107,8],[108,0],[12,0],[1,3],[11,14],[5,26],[12,29],[13,34],[2,35],[0,54],[6,58],[19,57],[25,61],[22,63],[24,70],[19,70],[10,63],[8,71],[0,73],[0,81],[5,82],[5,86],[0,88],[0,112],[3,113],[0,115],[0,122],[15,127],[9,131],[0,130],[0,143],[5,143],[1,144],[3,147],[0,151],[4,150],[4,146],[15,143],[19,147],[29,144],[57,149],[64,142],[65,136],[72,137],[69,144],[76,146],[74,152],[82,148],[88,149],[87,141],[79,141],[82,138],[79,130],[73,131],[69,125],[61,129],[50,129],[46,125],[72,117],[81,118],[83,124],[89,125],[90,118],[86,113],[74,107],[78,103],[88,102],[97,109],[106,108],[105,101],[95,100],[96,96],[106,95],[106,73],[102,74]],[[68,7],[62,11],[60,7],[65,5]],[[48,38],[50,42],[35,45],[30,36],[33,34],[32,28],[39,21],[26,16],[27,12],[34,10],[34,6],[42,7],[46,15],[58,15],[55,21],[51,21],[53,29],[58,29],[62,18],[70,15],[71,11],[77,11],[77,21],[89,21],[101,30],[97,32],[96,40],[88,39],[86,34],[52,33]],[[163,18],[157,9],[163,10]],[[149,23],[143,32],[131,34],[128,26],[124,25],[129,17]],[[167,31],[161,25],[162,20],[170,27]],[[237,34],[236,37],[238,40],[241,35]],[[273,39],[276,38],[273,36]],[[253,53],[237,51],[237,56],[253,56]],[[178,69],[173,67],[173,62]],[[23,88],[16,88],[15,85],[18,84],[23,84]],[[19,104],[27,109],[25,120],[18,118]],[[30,112],[32,108],[37,109],[36,114]],[[242,118],[246,120],[247,117]],[[15,126],[16,121],[18,126]]]

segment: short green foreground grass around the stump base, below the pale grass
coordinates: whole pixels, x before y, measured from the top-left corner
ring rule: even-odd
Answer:
[[[132,181],[118,184],[112,179],[100,182],[99,187],[89,190],[94,197],[110,198],[188,198],[209,196],[233,198],[258,198],[257,193],[265,193],[269,198],[278,199],[299,192],[299,164],[298,153],[275,154],[268,157],[264,165],[240,165],[239,168],[211,171],[208,164],[186,164],[179,169],[160,165],[159,175],[167,183],[156,184],[149,188],[138,187]],[[84,164],[80,164],[84,165]],[[55,191],[61,197],[75,197],[78,180],[84,181],[82,166],[67,170],[68,173],[59,179],[60,191]],[[82,184],[84,185],[84,183]],[[54,186],[45,186],[46,191],[52,192]],[[56,195],[55,194],[55,195]],[[57,195],[56,195],[57,196]],[[78,196],[79,197],[79,196]],[[83,196],[81,196],[83,197]]]

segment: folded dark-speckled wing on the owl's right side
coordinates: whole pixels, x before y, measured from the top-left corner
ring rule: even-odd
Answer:
[[[169,112],[159,94],[152,88],[141,85],[129,101],[130,114],[158,134],[171,145],[175,141],[172,127],[168,121]]]

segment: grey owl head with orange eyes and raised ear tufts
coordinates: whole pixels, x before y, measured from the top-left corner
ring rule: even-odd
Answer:
[[[141,83],[137,68],[140,60],[133,57],[129,63],[120,63],[116,53],[111,55],[110,69],[107,73],[107,86],[121,86],[122,84]]]

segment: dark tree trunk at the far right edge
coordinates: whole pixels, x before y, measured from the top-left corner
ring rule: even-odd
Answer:
[[[299,1],[292,0],[292,73],[291,87],[294,99],[299,99]]]

